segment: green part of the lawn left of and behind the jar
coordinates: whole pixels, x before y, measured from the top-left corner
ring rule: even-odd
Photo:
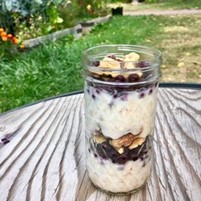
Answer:
[[[86,48],[110,43],[144,44],[157,28],[154,17],[116,17],[79,40],[69,42],[67,38],[52,42],[9,62],[0,62],[1,112],[82,89],[80,61]]]

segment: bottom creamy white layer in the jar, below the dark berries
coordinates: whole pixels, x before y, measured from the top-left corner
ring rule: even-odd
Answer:
[[[143,166],[145,161],[146,165]],[[119,165],[94,157],[90,153],[87,157],[87,169],[90,179],[99,188],[113,193],[124,193],[145,184],[150,175],[152,159],[147,158],[145,161],[138,159]]]

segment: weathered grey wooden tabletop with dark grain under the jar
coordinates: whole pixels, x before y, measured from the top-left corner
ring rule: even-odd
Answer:
[[[201,86],[194,86],[161,85],[156,163],[147,186],[130,196],[107,195],[88,178],[83,93],[2,114],[0,201],[200,201]]]

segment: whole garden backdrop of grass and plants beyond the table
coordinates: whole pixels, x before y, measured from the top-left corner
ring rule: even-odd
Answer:
[[[134,1],[133,1],[134,2]],[[81,38],[66,35],[34,48],[23,42],[124,11],[200,9],[200,0],[2,0],[0,112],[83,88],[81,54],[100,44],[137,44],[163,52],[163,82],[201,81],[201,14],[112,16]]]

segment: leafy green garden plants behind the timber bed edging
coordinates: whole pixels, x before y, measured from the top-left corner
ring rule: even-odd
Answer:
[[[0,27],[21,40],[74,26],[106,14],[107,0],[2,0]]]

